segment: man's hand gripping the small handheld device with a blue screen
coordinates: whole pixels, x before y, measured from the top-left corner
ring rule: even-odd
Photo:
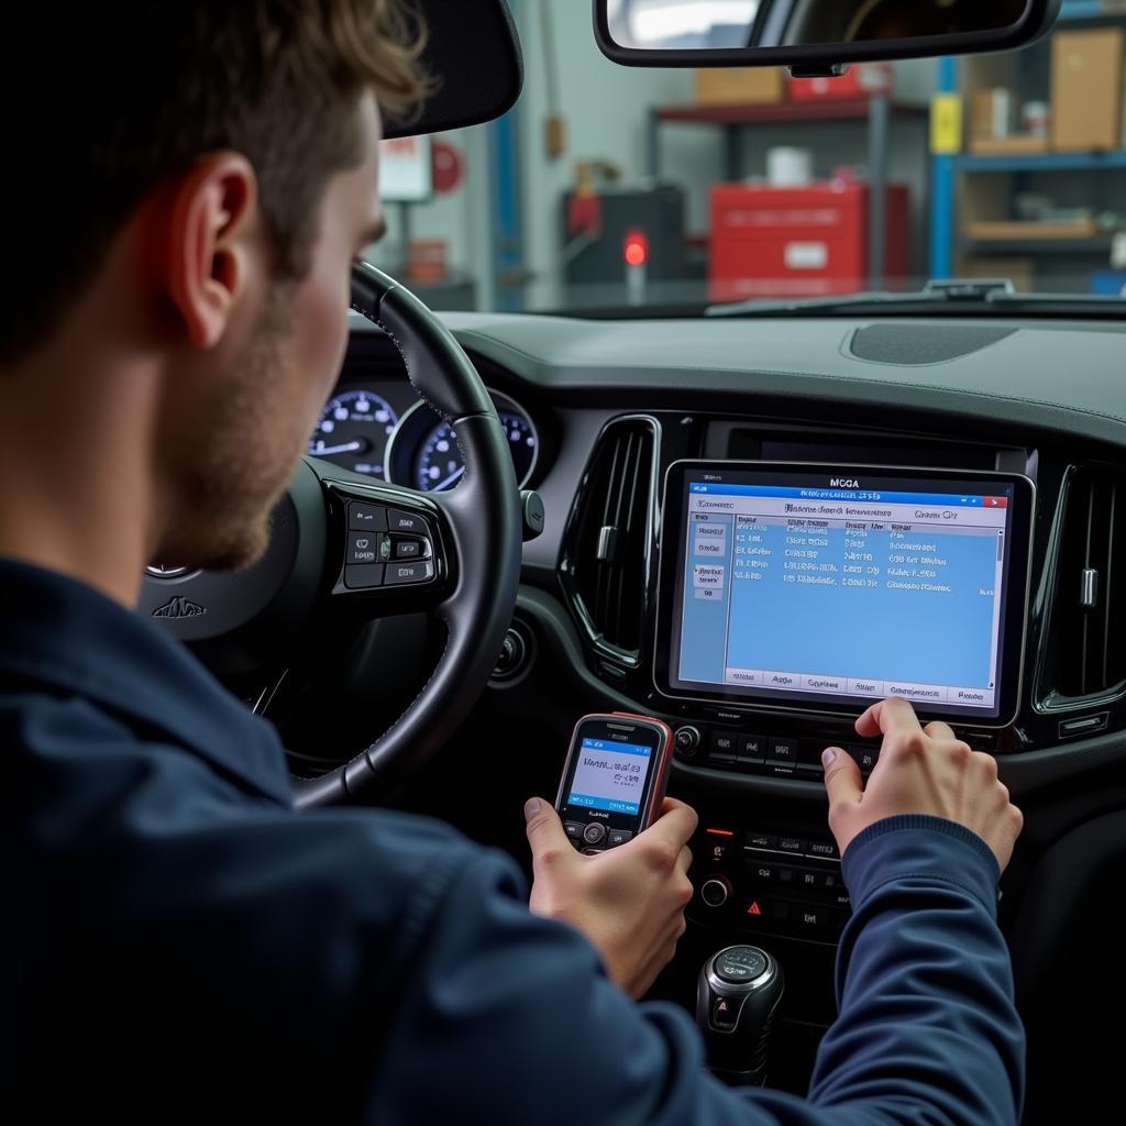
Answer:
[[[548,802],[524,808],[535,878],[534,914],[571,923],[598,947],[610,978],[638,998],[672,960],[692,897],[687,844],[696,812],[667,797],[643,833],[600,856],[582,856]]]

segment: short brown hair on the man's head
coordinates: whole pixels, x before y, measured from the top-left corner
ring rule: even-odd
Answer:
[[[426,93],[405,0],[30,0],[5,23],[0,364],[50,336],[136,206],[208,152],[251,162],[277,270],[300,276],[329,179],[359,159],[360,95],[403,119]]]

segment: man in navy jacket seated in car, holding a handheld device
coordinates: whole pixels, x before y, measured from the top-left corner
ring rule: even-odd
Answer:
[[[586,858],[529,801],[530,911],[443,824],[295,812],[274,730],[131,607],[151,561],[263,549],[418,29],[399,0],[65,18],[29,6],[7,46],[35,66],[3,68],[0,1119],[1016,1121],[1021,817],[904,701],[858,723],[867,788],[825,752],[855,914],[807,1099],[723,1087],[685,1012],[634,1002],[683,931],[686,805]]]

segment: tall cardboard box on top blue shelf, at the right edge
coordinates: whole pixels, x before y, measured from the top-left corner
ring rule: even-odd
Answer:
[[[1123,52],[1117,27],[1052,37],[1052,146],[1117,149],[1121,141]]]

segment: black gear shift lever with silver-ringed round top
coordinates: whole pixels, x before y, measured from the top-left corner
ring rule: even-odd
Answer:
[[[770,1028],[783,982],[778,963],[757,946],[729,946],[704,963],[696,1020],[708,1067],[729,1083],[766,1082]]]

